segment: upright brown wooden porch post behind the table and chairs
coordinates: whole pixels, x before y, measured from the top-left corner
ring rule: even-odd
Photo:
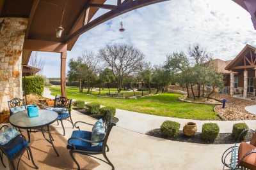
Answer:
[[[60,80],[61,80],[61,96],[66,95],[66,59],[67,52],[61,52],[61,67],[60,67]]]

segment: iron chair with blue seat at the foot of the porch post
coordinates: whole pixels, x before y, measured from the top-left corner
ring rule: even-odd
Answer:
[[[65,127],[63,125],[63,120],[68,120],[72,124],[72,128],[74,128],[74,123],[71,117],[71,105],[72,99],[67,99],[67,97],[56,96],[54,99],[54,108],[65,108],[67,111],[65,113],[58,113],[57,123],[59,125],[59,120],[63,129],[63,136],[65,136]]]

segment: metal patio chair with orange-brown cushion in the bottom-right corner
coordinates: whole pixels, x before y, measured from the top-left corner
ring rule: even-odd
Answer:
[[[256,164],[249,164],[248,162],[246,162],[247,161],[246,158],[251,157],[251,156],[253,156],[253,160],[256,159],[256,146],[255,146],[255,144],[251,145],[252,139],[250,141],[250,144],[242,142],[239,145],[241,136],[247,132],[253,132],[253,134],[256,133],[256,131],[254,131],[252,129],[245,129],[243,132],[241,132],[241,134],[239,134],[239,138],[238,138],[236,144],[234,146],[231,146],[227,150],[225,150],[225,152],[223,153],[223,155],[221,157],[223,169],[225,167],[228,167],[228,169],[230,169],[230,170],[256,169]],[[255,140],[255,137],[256,136],[254,136],[254,140]],[[253,154],[253,153],[255,153],[255,154]]]

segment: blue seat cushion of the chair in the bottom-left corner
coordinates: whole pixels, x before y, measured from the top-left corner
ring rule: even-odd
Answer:
[[[20,154],[24,148],[28,147],[28,142],[22,138],[22,136],[17,136],[6,145],[3,146],[3,152],[6,153],[6,156],[10,159],[14,159],[17,154]]]

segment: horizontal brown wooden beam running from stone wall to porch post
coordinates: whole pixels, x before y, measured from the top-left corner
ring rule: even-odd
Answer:
[[[66,52],[67,44],[54,41],[43,41],[36,39],[25,39],[23,50],[39,52]]]

